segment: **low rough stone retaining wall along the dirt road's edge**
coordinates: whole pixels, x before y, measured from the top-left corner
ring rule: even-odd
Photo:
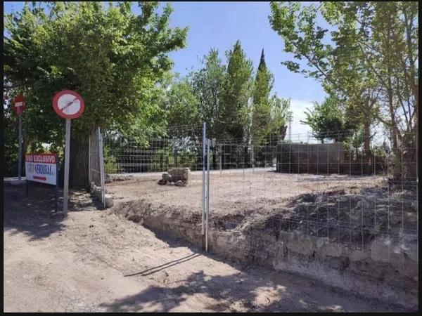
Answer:
[[[177,218],[143,201],[125,209],[128,219],[202,246],[200,218]],[[356,249],[328,242],[324,237],[299,232],[273,235],[252,228],[211,229],[208,244],[211,252],[225,258],[293,272],[363,296],[414,308],[418,303],[417,237],[406,235],[402,240],[406,246],[388,237],[378,237],[365,249]]]

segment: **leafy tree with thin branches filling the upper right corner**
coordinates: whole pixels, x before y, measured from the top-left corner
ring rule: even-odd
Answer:
[[[370,124],[381,121],[397,149],[399,141],[416,132],[418,4],[338,1],[319,8],[271,3],[271,27],[295,58],[283,65],[338,94],[351,114],[359,114],[366,139]],[[316,24],[319,13],[331,32]]]

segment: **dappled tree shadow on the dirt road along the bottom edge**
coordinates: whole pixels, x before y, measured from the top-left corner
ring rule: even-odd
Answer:
[[[206,275],[205,272],[193,272],[184,284],[176,287],[151,286],[133,296],[100,304],[106,312],[170,312],[177,308],[195,304],[195,311],[213,312],[343,312],[343,311],[405,311],[404,308],[385,303],[364,302],[363,298],[352,294],[343,294],[332,289],[316,295],[309,295],[307,288],[314,286],[312,281],[297,289],[289,289],[276,278],[262,277],[256,268],[244,270],[234,275]],[[188,302],[189,300],[189,302]],[[350,302],[345,303],[345,301]],[[198,308],[198,301],[203,308]],[[345,304],[343,304],[345,303]]]

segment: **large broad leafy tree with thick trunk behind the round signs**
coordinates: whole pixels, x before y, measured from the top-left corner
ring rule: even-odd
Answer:
[[[87,140],[96,126],[143,140],[162,131],[157,84],[172,67],[167,53],[185,46],[187,29],[170,28],[172,8],[156,13],[158,2],[140,2],[140,15],[129,2],[46,6],[49,13],[25,3],[6,15],[4,74],[27,96],[28,143],[63,147],[64,122],[51,100],[64,88],[84,98],[84,114],[72,121],[70,180],[85,185]]]

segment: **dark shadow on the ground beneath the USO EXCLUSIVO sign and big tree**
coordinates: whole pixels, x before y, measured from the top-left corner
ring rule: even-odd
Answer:
[[[63,230],[63,190],[58,192],[58,212],[55,211],[53,185],[30,183],[26,196],[26,185],[4,185],[4,231],[24,232],[31,240],[49,237]],[[69,203],[70,211],[102,209],[85,192],[75,191]]]

